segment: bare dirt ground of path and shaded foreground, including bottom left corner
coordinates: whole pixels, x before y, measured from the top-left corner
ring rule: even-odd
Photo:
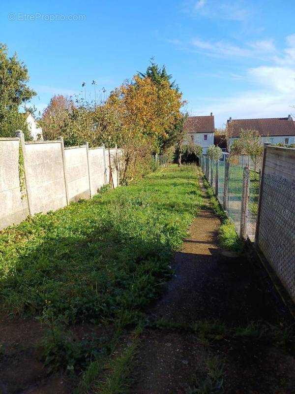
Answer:
[[[203,194],[206,199],[205,191]],[[209,209],[202,210],[182,250],[175,254],[175,275],[147,315],[150,321],[184,328],[150,325],[144,329],[131,394],[199,393],[190,392],[189,387],[204,379],[206,360],[216,355],[224,362],[224,393],[295,393],[295,359],[289,348],[271,341],[227,337],[206,343],[196,332],[185,329],[198,321],[216,319],[229,328],[261,320],[276,325],[292,322],[259,264],[223,254],[218,245],[219,226]],[[82,333],[89,329],[77,328]],[[1,318],[0,394],[73,393],[72,381],[61,373],[48,374],[40,361],[41,336],[36,320]]]

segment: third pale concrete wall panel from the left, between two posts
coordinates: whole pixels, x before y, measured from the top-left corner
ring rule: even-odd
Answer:
[[[89,198],[87,146],[65,148],[64,156],[69,201]]]

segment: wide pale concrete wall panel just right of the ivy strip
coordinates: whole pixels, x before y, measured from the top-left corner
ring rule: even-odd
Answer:
[[[60,141],[26,142],[25,169],[31,215],[67,204]]]

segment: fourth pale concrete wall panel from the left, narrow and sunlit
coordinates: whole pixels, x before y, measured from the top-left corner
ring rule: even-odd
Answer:
[[[105,184],[104,147],[89,149],[89,173],[91,196]]]

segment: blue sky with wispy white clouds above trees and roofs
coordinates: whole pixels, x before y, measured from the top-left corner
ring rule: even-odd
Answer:
[[[0,41],[28,66],[40,110],[83,81],[91,98],[93,79],[109,92],[154,56],[186,110],[212,111],[220,127],[230,116],[295,114],[294,18],[291,0],[17,0],[0,5]]]

